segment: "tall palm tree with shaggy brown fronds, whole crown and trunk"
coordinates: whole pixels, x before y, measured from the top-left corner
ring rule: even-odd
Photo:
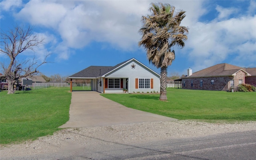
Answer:
[[[160,100],[166,101],[167,68],[175,59],[173,46],[183,48],[184,40],[187,40],[188,27],[180,26],[186,16],[185,11],[180,10],[174,14],[175,7],[170,4],[151,3],[151,15],[142,16],[143,27],[139,32],[142,39],[138,43],[147,51],[149,63],[161,69]]]

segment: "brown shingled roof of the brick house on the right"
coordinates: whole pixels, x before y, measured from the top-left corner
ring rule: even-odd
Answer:
[[[234,66],[234,65],[231,65],[231,64],[222,63],[222,64],[216,64],[214,66],[205,68],[205,69],[200,70],[198,72],[194,72],[189,77],[231,76],[232,74],[238,72],[241,69],[247,72],[247,69],[245,69],[245,68],[242,68],[242,67],[239,67],[239,66]],[[250,74],[250,72],[248,72],[248,73]]]

